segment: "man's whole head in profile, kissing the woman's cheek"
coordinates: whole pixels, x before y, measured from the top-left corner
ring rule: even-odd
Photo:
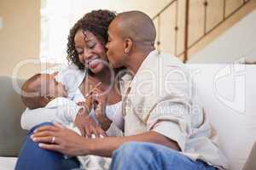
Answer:
[[[118,14],[108,27],[106,48],[110,65],[137,71],[138,64],[154,50],[155,37],[154,23],[147,14],[140,11]]]

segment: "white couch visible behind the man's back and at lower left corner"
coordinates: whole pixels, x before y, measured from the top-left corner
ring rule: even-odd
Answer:
[[[188,66],[194,75],[195,95],[218,130],[230,169],[240,170],[256,141],[256,65]],[[15,161],[0,157],[0,169],[13,169]]]

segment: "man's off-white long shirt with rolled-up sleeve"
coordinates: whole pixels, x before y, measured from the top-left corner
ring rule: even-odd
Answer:
[[[193,96],[189,70],[177,58],[152,51],[121,85],[125,136],[155,131],[176,141],[190,159],[228,168],[217,133]]]

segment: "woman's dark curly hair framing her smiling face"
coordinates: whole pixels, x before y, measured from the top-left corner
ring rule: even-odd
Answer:
[[[79,61],[79,54],[75,48],[74,37],[77,31],[90,31],[96,36],[102,44],[108,42],[108,26],[114,19],[116,14],[109,10],[93,10],[90,13],[84,14],[83,18],[78,20],[73,28],[69,31],[67,42],[67,60],[69,63],[77,65],[79,69],[83,70],[84,65]]]

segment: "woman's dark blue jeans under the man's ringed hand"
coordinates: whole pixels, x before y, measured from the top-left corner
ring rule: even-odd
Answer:
[[[33,131],[37,127],[44,125],[52,125],[52,123],[44,122],[36,127],[32,127],[29,133],[27,133],[15,170],[66,170],[80,167],[80,163],[75,157],[65,158],[59,152],[43,150],[38,146],[38,143],[30,139]]]

